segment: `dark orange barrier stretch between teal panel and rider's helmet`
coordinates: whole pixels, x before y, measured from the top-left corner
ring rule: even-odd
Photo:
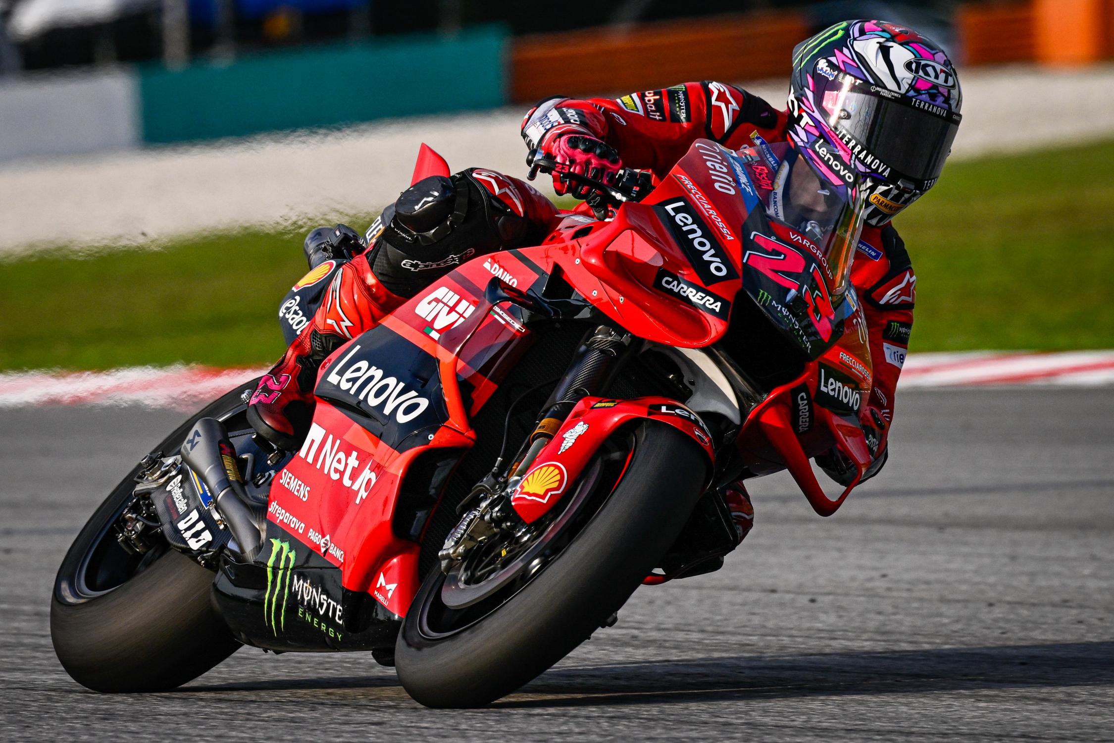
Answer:
[[[801,16],[770,12],[518,37],[509,97],[532,102],[686,80],[788,80],[793,46],[808,35]]]

